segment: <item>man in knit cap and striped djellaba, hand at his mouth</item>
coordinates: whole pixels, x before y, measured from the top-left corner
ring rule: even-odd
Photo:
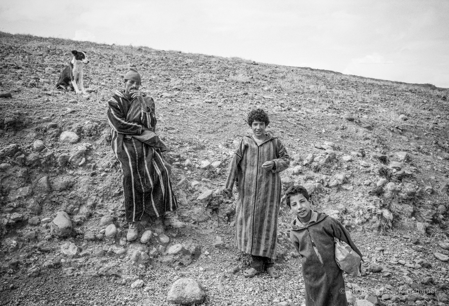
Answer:
[[[185,227],[176,216],[177,202],[164,164],[166,147],[156,135],[153,98],[139,90],[141,74],[131,67],[124,78],[125,89],[108,101],[112,149],[123,174],[125,215],[129,223],[126,239],[138,236],[144,214],[164,218],[165,225]]]

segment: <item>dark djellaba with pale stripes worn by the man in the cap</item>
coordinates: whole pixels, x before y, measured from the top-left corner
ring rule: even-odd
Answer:
[[[107,115],[112,128],[111,146],[122,169],[125,215],[128,222],[139,221],[144,213],[161,217],[166,211],[177,208],[160,149],[128,136],[140,135],[145,129],[155,131],[153,98],[144,94],[144,101],[147,109],[141,110],[140,122],[126,119],[132,101],[123,92],[115,92],[108,101]]]

